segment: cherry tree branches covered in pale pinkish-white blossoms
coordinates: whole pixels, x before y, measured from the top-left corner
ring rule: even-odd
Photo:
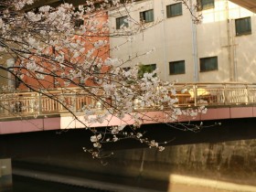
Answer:
[[[111,32],[108,11],[120,7],[128,11],[133,6],[132,0],[88,0],[77,7],[34,4],[37,4],[34,0],[0,2],[0,69],[10,74],[13,82],[10,83],[13,85],[2,86],[1,98],[10,92],[33,91],[58,103],[91,131],[92,147],[84,150],[93,157],[101,157],[102,144],[127,138],[163,151],[164,145],[154,138],[144,138],[144,133],[140,132],[144,121],[151,118],[155,123],[176,127],[172,123],[177,123],[181,116],[193,118],[198,112],[206,112],[203,106],[197,109],[177,107],[174,82],[160,80],[155,75],[157,69],[139,76],[138,67],[123,69],[125,61],[110,57],[109,37],[124,36],[129,42],[134,34],[150,27],[128,17],[132,25]],[[149,48],[140,57],[152,51],[154,48]],[[54,93],[55,90],[60,94]],[[78,118],[74,102],[65,98],[67,92],[91,99],[80,108],[83,120]],[[37,112],[37,104],[29,107]],[[1,107],[10,111],[10,107],[14,108],[4,102]],[[162,112],[165,121],[148,116],[146,111]],[[22,116],[22,113],[14,112],[14,115]],[[133,119],[132,125],[126,122],[127,116]],[[103,131],[88,126],[88,123],[102,123],[112,117],[120,119],[121,123],[106,126]],[[200,126],[184,124],[183,128],[197,131]]]

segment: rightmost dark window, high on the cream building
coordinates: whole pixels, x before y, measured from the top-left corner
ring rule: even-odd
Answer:
[[[235,25],[237,36],[251,34],[251,17],[236,19]]]

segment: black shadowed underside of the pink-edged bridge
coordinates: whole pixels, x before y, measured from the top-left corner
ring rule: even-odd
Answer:
[[[180,131],[166,124],[145,124],[141,129],[146,132],[148,138],[159,142],[174,139],[168,145],[217,143],[256,138],[255,118],[215,120],[204,123],[205,125],[221,123],[221,125],[209,126],[198,133]],[[0,135],[0,158],[82,153],[82,147],[91,148],[90,136],[91,133],[84,129],[3,134]],[[137,141],[123,140],[103,147],[106,151],[114,151],[146,146]]]

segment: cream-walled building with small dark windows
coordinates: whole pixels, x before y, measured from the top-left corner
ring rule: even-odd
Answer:
[[[190,11],[201,14],[200,23],[193,22],[186,5],[174,0],[142,0],[110,12],[112,32],[129,31],[134,22],[148,27],[134,35],[133,41],[112,37],[112,57],[122,59],[123,68],[156,67],[162,80],[255,82],[255,14],[228,0],[187,3],[190,7],[198,3]],[[154,52],[141,56],[152,48]]]

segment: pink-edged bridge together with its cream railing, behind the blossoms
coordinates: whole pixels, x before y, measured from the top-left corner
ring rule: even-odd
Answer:
[[[48,91],[60,101],[72,103],[77,119],[63,108],[59,101],[51,100],[37,92],[1,93],[0,134],[27,133],[59,129],[76,129],[112,125],[133,124],[126,115],[123,120],[109,117],[103,123],[88,123],[84,120],[82,107],[93,104],[95,110],[102,112],[101,103],[88,97],[80,89]],[[179,121],[208,121],[256,117],[256,86],[243,83],[187,83],[176,84],[176,107],[208,108],[206,114],[198,114],[194,119],[181,117]],[[134,101],[134,112],[144,117],[144,124],[166,123],[165,112],[152,108],[142,108]]]

